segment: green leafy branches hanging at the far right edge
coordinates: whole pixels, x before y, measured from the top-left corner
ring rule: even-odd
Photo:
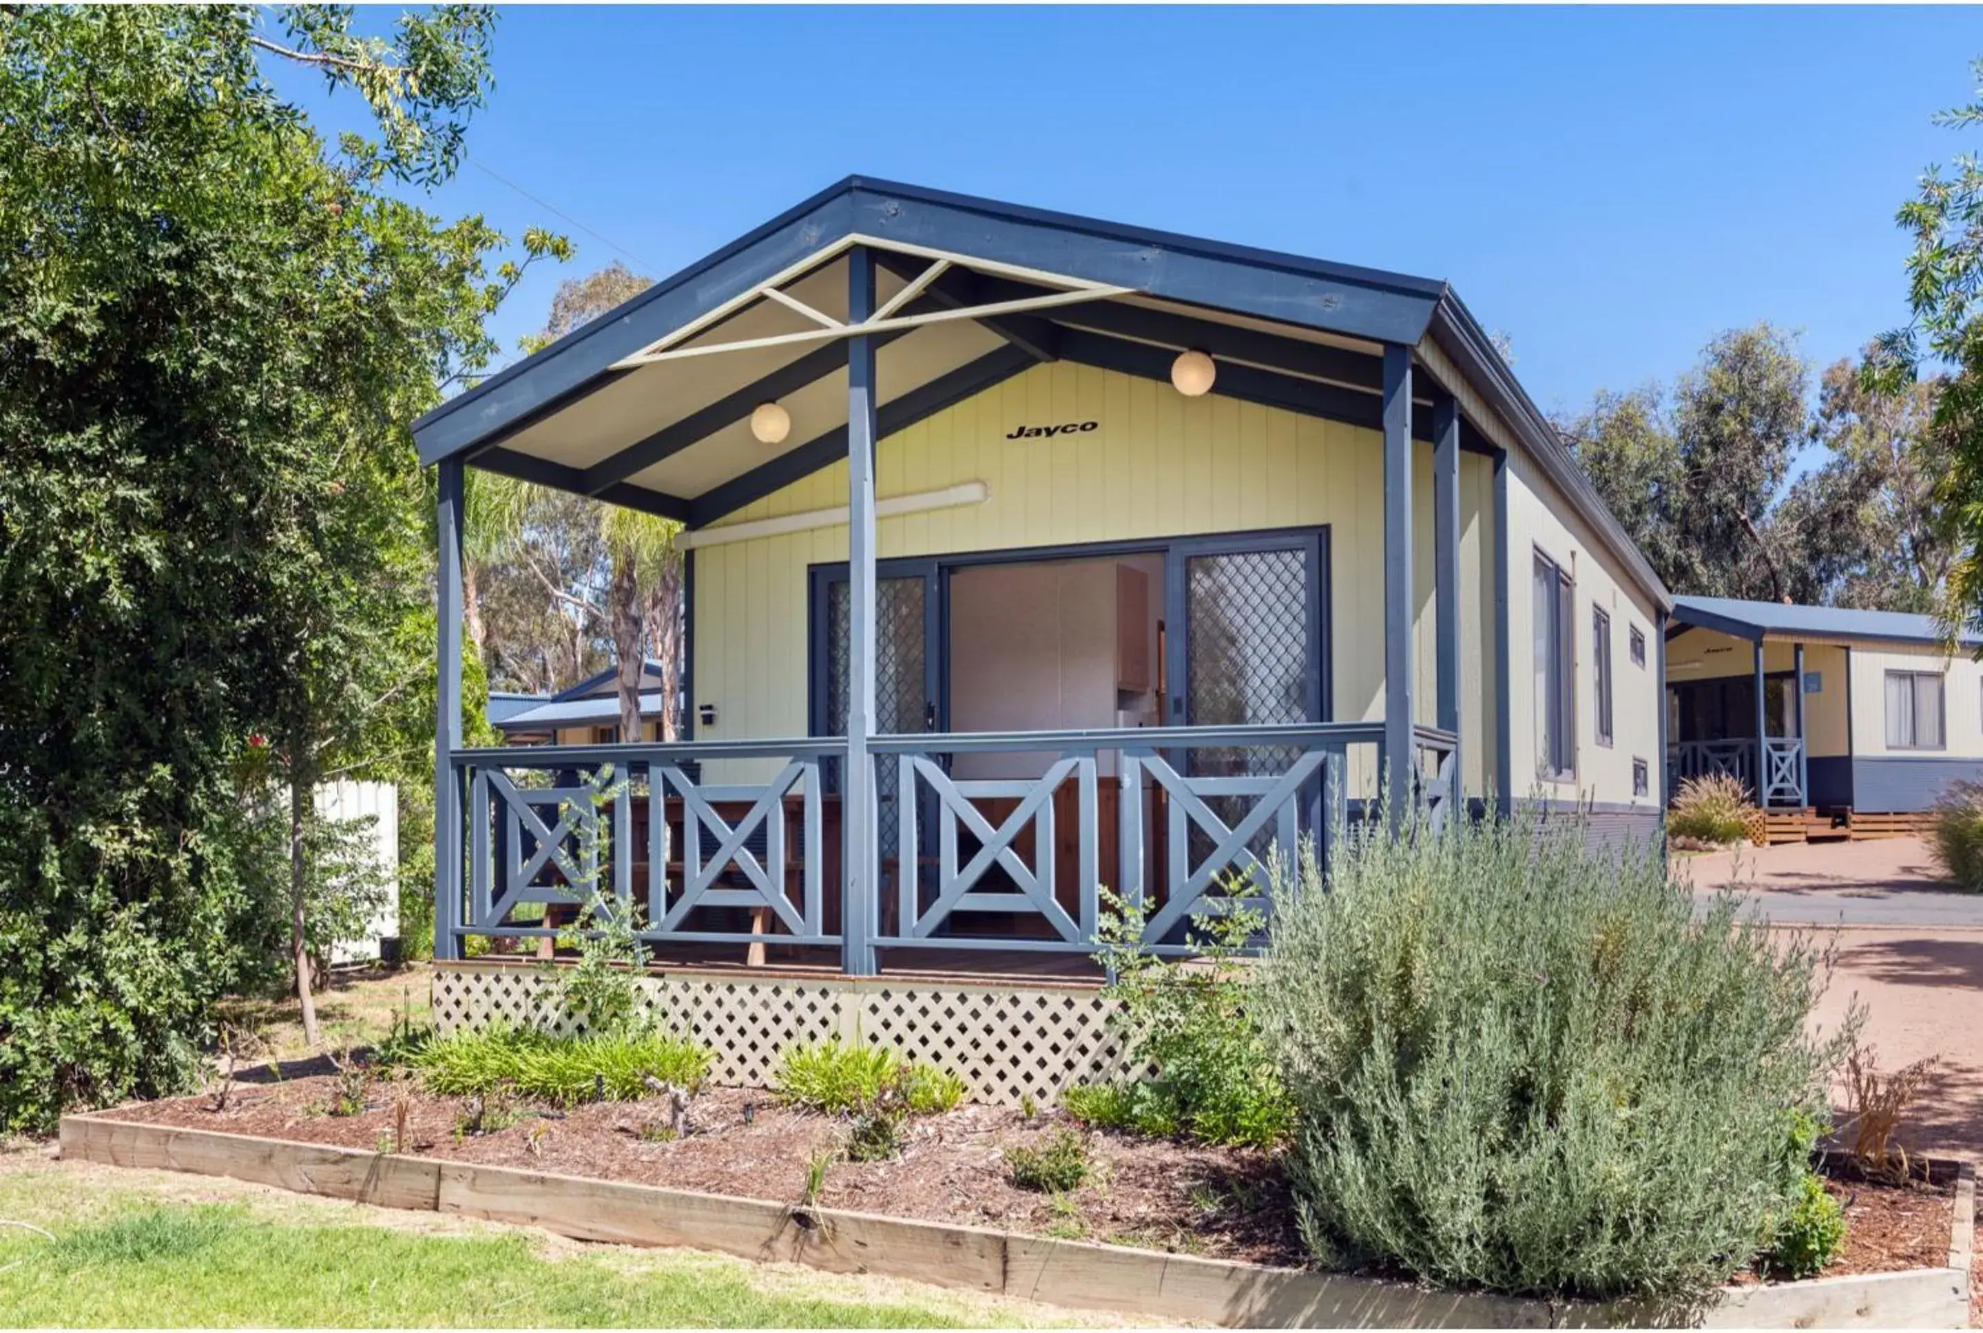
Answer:
[[[1949,129],[1983,125],[1983,60],[1977,95],[1933,117]],[[1951,631],[1983,627],[1983,163],[1963,153],[1953,169],[1929,167],[1896,222],[1914,238],[1908,256],[1906,327],[1884,333],[1868,357],[1868,387],[1906,395],[1924,369],[1945,379],[1933,401],[1933,432],[1945,466],[1933,484],[1951,547],[1937,615]]]

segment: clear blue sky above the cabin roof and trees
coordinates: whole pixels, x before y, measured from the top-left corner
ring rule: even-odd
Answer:
[[[508,8],[470,155],[650,276],[865,173],[1446,278],[1575,411],[1755,319],[1818,365],[1904,319],[1975,56],[1959,8]],[[434,206],[623,258],[476,165]]]

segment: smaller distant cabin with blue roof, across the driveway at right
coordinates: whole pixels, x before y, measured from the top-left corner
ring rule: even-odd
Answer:
[[[1983,780],[1977,641],[1925,615],[1678,597],[1666,645],[1668,774],[1729,774],[1765,809],[1888,833]]]

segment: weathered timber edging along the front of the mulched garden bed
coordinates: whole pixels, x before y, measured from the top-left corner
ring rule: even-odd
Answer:
[[[791,1208],[652,1184],[137,1125],[107,1113],[63,1117],[61,1154],[539,1226],[575,1240],[716,1250],[835,1273],[1233,1327],[1965,1327],[1975,1228],[1975,1168],[1965,1162],[1945,1268],[1723,1287],[1701,1307],[1598,1305],[1434,1291],[1376,1277]]]

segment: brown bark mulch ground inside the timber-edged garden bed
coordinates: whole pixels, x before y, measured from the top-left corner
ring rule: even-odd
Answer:
[[[837,1119],[779,1105],[769,1093],[706,1089],[690,1109],[688,1135],[662,1139],[660,1101],[522,1107],[514,1125],[472,1133],[470,1099],[430,1097],[410,1083],[375,1083],[361,1115],[329,1115],[337,1079],[293,1077],[236,1085],[224,1109],[214,1097],[121,1107],[119,1119],[236,1135],[387,1149],[405,1111],[403,1151],[442,1160],[520,1166],[569,1176],[633,1180],[710,1194],[793,1204],[803,1200],[815,1154],[845,1145]],[[912,1119],[900,1156],[835,1160],[819,1204],[932,1222],[992,1226],[1299,1266],[1285,1178],[1271,1154],[1126,1135],[1089,1135],[1091,1182],[1065,1198],[1013,1186],[1005,1151],[1041,1147],[1071,1121],[964,1105]],[[1844,1254],[1824,1275],[1882,1273],[1947,1264],[1953,1174],[1888,1184],[1836,1170],[1826,1188],[1846,1210]]]

